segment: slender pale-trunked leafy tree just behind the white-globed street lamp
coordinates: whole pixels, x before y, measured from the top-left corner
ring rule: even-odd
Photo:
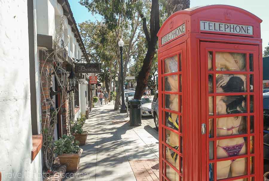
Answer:
[[[115,70],[118,70],[117,87],[119,88],[123,86],[120,80],[124,80],[126,77],[128,63],[138,50],[139,46],[136,45],[142,44],[142,42],[139,42],[139,38],[143,34],[143,30],[139,28],[140,15],[135,8],[135,4],[131,0],[80,0],[80,4],[85,6],[91,13],[103,16],[104,24],[106,24],[107,28],[115,35],[113,41],[115,43],[115,56],[117,60]],[[118,73],[121,67],[117,42],[120,38],[123,38],[123,41],[126,43],[123,55],[123,78],[121,78]],[[121,89],[117,89],[115,110],[119,109],[120,95]]]

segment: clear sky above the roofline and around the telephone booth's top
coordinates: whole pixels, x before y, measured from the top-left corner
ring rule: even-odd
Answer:
[[[74,14],[75,20],[81,23],[86,20],[100,20],[100,15],[92,15],[88,10],[78,3],[79,0],[69,0],[72,12]],[[261,35],[262,35],[262,47],[268,46],[269,42],[269,0],[190,0],[190,7],[201,6],[201,5],[211,5],[211,4],[227,4],[245,9],[263,20],[261,24]]]

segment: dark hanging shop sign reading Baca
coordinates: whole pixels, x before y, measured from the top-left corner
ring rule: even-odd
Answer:
[[[101,64],[75,64],[76,73],[101,73]]]

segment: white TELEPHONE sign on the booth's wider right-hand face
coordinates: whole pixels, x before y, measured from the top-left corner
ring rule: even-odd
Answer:
[[[213,31],[218,33],[235,33],[242,35],[253,35],[253,27],[241,24],[228,24],[212,21],[200,21],[201,31]]]

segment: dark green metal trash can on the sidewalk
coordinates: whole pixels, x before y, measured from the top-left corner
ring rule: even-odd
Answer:
[[[141,100],[129,100],[130,126],[141,125]]]

